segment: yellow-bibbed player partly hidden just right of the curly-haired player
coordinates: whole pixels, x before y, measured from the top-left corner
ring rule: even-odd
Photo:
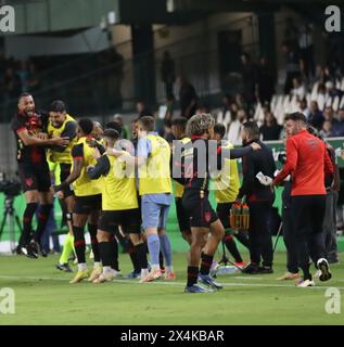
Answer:
[[[226,127],[222,124],[216,124],[214,126],[214,139],[217,141],[218,145],[222,145],[225,149],[232,150],[233,145],[229,142],[222,143],[222,139],[226,134]],[[238,163],[235,159],[225,159],[221,174],[218,179],[214,180],[214,193],[217,203],[216,213],[220,219],[225,232],[222,242],[225,243],[229,253],[233,256],[235,265],[238,267],[244,267],[244,261],[241,257],[241,254],[237,247],[233,235],[230,233],[229,224],[229,215],[232,204],[235,202],[235,198],[239,193],[240,182],[239,182],[239,172],[238,172]],[[249,237],[246,232],[241,230],[234,234],[234,236],[246,247],[250,247]]]

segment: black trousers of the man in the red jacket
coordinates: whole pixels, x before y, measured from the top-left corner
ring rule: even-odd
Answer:
[[[324,257],[322,222],[326,195],[292,196],[293,230],[296,242],[297,262],[308,272],[309,258],[317,264]]]

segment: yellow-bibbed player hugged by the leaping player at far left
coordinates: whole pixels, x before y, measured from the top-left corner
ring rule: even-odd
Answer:
[[[76,120],[71,117],[66,112],[66,106],[63,101],[55,100],[51,103],[49,111],[49,124],[48,124],[48,136],[50,139],[53,138],[68,138],[69,144],[64,146],[54,145],[48,150],[48,158],[51,163],[60,166],[60,182],[63,182],[69,175],[72,169],[72,147],[75,144],[76,138]],[[74,192],[71,185],[66,185],[61,191],[62,203],[65,203],[67,214],[67,224],[69,232],[63,245],[63,253],[60,257],[56,268],[62,271],[71,272],[68,266],[68,258],[73,253],[73,229],[72,229],[72,213],[74,207]]]

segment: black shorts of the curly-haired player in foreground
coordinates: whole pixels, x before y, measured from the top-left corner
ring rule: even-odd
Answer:
[[[218,219],[208,196],[201,198],[199,191],[186,191],[182,196],[182,206],[189,216],[191,228],[211,228],[211,224]]]

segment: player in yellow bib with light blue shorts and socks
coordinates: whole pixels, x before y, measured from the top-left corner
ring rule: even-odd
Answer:
[[[138,119],[138,149],[135,158],[139,167],[139,194],[141,196],[142,224],[151,259],[151,272],[141,270],[141,282],[151,282],[162,277],[160,249],[166,261],[165,279],[175,279],[171,265],[171,246],[166,234],[166,222],[171,203],[170,147],[155,129],[151,116]],[[111,155],[122,156],[117,150],[109,150]],[[130,157],[133,158],[133,157]]]

